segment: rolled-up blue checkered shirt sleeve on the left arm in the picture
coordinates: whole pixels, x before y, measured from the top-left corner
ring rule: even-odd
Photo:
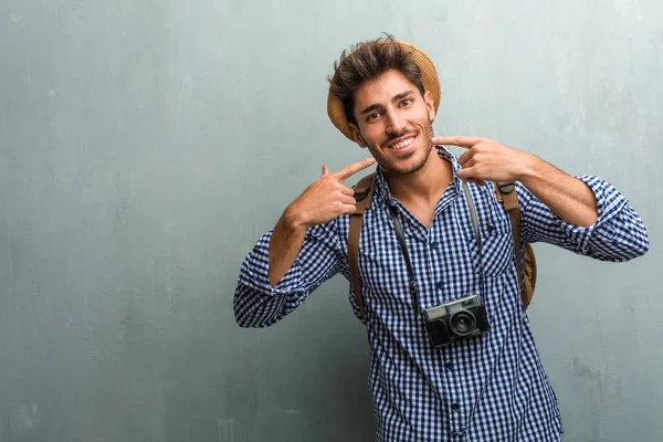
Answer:
[[[269,246],[265,233],[244,259],[235,288],[233,309],[242,327],[269,327],[298,307],[311,293],[339,270],[336,221],[306,232],[292,267],[274,287],[267,277]]]

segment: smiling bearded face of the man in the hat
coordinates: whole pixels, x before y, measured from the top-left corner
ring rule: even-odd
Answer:
[[[355,91],[355,140],[368,147],[387,173],[408,175],[428,161],[435,116],[430,92],[396,70],[362,83]]]

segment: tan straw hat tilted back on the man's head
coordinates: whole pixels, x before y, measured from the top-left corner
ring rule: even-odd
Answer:
[[[410,52],[410,61],[419,66],[419,70],[421,71],[421,83],[423,84],[424,91],[430,91],[430,93],[433,95],[436,113],[438,107],[440,106],[441,90],[440,78],[438,78],[438,71],[435,70],[433,61],[425,52],[411,43],[400,40],[393,40],[393,43],[404,46]],[[348,57],[350,56],[352,56],[352,54],[348,55]],[[327,95],[327,115],[329,115],[329,119],[332,123],[334,123],[334,126],[336,126],[336,128],[343,133],[343,135],[352,141],[355,140],[352,138],[352,130],[348,124],[348,118],[346,116],[343,103],[332,95],[332,91],[329,91],[329,94]]]

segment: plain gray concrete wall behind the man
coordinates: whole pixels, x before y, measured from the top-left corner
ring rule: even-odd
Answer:
[[[659,0],[0,0],[0,441],[366,441],[367,348],[334,278],[271,329],[239,266],[320,170],[340,50],[436,61],[436,134],[613,182],[629,264],[537,246],[530,319],[567,441],[663,434]]]

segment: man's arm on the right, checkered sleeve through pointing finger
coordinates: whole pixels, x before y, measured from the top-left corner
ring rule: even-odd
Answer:
[[[525,242],[545,241],[603,261],[649,250],[646,229],[627,199],[596,177],[571,177],[532,154],[485,138],[438,137],[467,149],[459,177],[480,185],[516,182]]]

